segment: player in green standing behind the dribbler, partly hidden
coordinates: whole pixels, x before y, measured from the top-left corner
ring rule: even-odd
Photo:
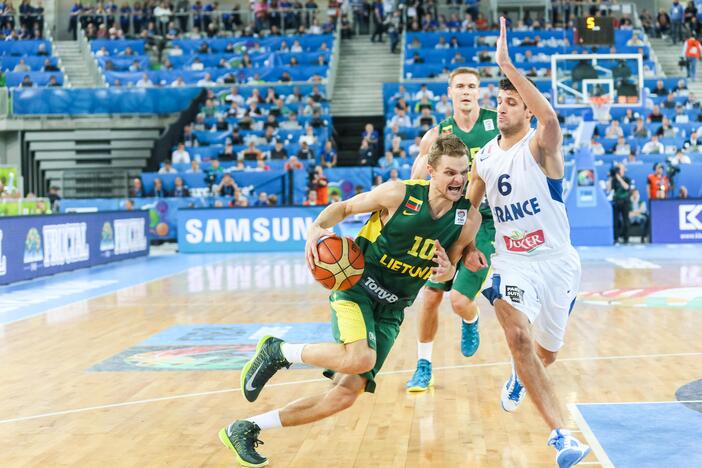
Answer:
[[[451,72],[448,95],[453,105],[453,116],[429,130],[422,138],[419,146],[420,155],[412,167],[412,179],[425,179],[427,177],[425,155],[440,136],[452,134],[460,138],[469,150],[469,158],[472,163],[473,156],[480,148],[499,134],[497,112],[481,109],[478,105],[479,88],[480,75],[476,69],[461,67]],[[489,259],[495,251],[493,246],[495,225],[488,206],[483,205],[480,214],[482,215],[482,224],[476,236],[476,246]],[[431,354],[438,329],[439,305],[443,299],[444,291],[451,291],[451,306],[462,319],[461,352],[464,356],[469,357],[478,350],[480,345],[478,307],[474,300],[487,275],[488,268],[472,272],[463,266],[463,263],[460,263],[453,281],[427,282],[426,288],[424,288],[422,309],[417,319],[417,370],[407,382],[407,391],[423,392],[433,384]]]

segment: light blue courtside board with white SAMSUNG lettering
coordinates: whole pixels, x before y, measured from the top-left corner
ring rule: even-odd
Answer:
[[[178,210],[184,253],[302,251],[307,229],[323,206]]]

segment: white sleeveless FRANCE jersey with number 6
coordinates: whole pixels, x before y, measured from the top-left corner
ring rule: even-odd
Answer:
[[[495,221],[497,255],[542,257],[570,248],[563,179],[546,177],[531,155],[532,129],[508,151],[491,140],[475,156]]]

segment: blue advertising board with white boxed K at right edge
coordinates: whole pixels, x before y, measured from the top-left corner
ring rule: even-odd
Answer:
[[[702,199],[652,200],[651,241],[702,242]]]

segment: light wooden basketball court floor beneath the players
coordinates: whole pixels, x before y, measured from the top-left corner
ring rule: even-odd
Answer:
[[[569,427],[596,448],[585,463],[602,466],[619,464],[581,405],[675,402],[678,389],[702,378],[702,250],[611,251],[616,258],[582,252],[583,293],[549,371]],[[549,430],[531,402],[514,414],[500,407],[509,354],[493,311],[480,304],[482,341],[471,359],[460,354],[458,318],[442,304],[433,391],[404,390],[416,362],[416,303],[375,395],[319,423],[267,431],[259,451],[276,467],[554,466]],[[208,368],[220,363],[207,353],[221,348],[194,346],[179,358],[199,349],[198,370],[169,369],[166,351],[132,355],[123,361],[134,367],[124,369],[101,363],[176,325],[290,324],[293,333],[325,321],[326,292],[302,256],[279,254],[228,257],[0,326],[0,465],[233,466],[217,431],[323,391],[318,370],[281,371],[250,404],[239,371]],[[651,450],[654,465],[666,461]]]

